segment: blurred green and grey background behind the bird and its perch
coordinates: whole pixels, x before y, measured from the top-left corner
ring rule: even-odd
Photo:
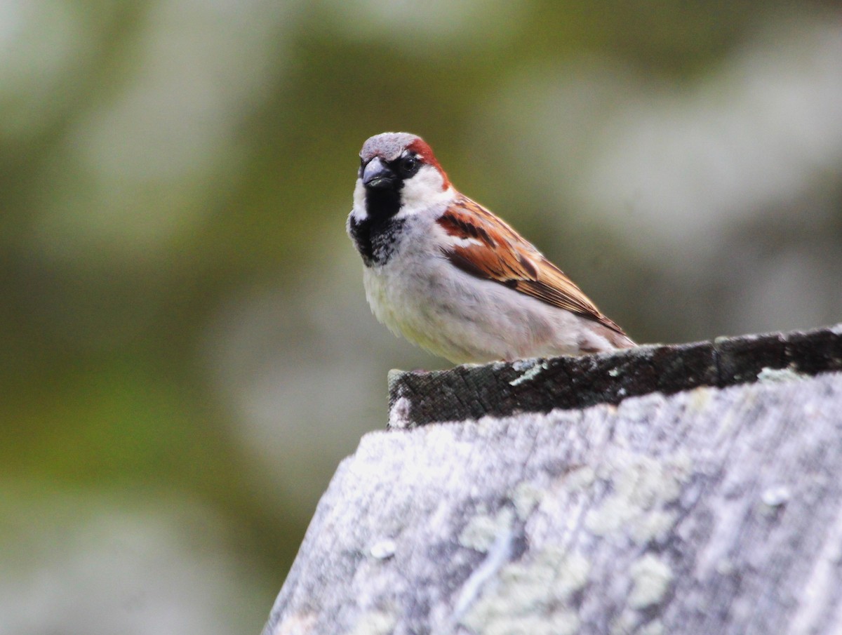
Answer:
[[[0,633],[258,632],[440,368],[357,153],[429,141],[641,342],[842,320],[838,2],[0,2]]]

